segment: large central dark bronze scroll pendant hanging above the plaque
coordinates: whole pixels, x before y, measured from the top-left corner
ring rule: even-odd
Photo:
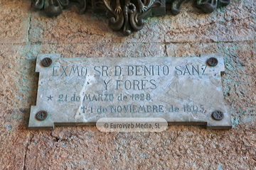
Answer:
[[[95,6],[105,8],[110,16],[110,28],[122,29],[124,35],[130,35],[132,30],[141,30],[150,9],[161,6],[161,3],[155,0],[144,0],[144,3],[142,0],[124,0],[122,4],[120,0],[115,1],[116,3],[112,5],[112,0],[100,0],[96,1]]]

